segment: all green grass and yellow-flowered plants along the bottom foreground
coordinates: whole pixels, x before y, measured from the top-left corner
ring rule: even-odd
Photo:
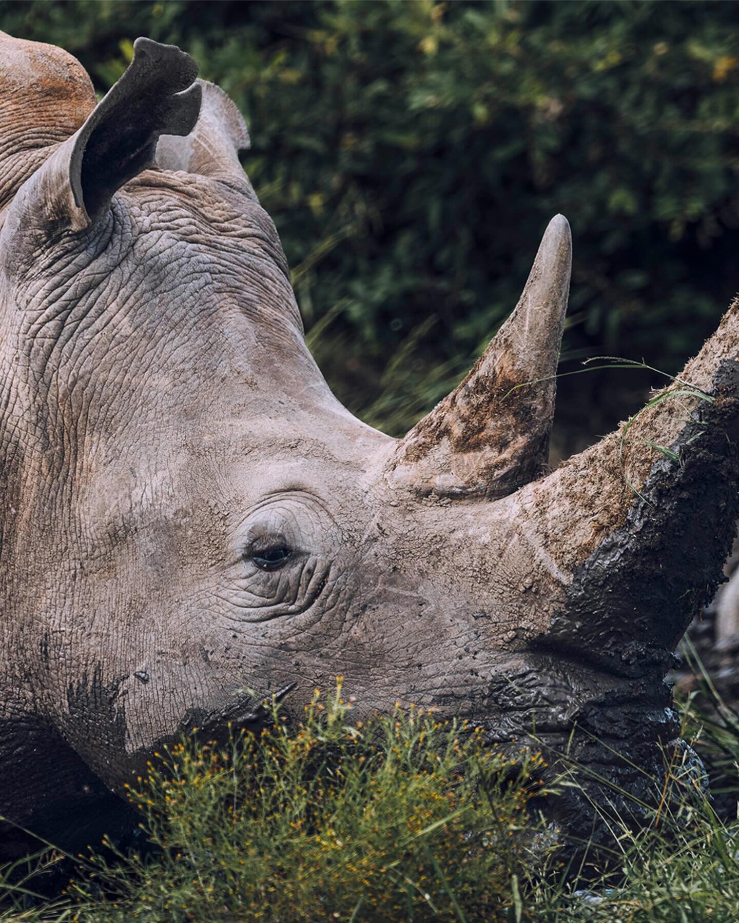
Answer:
[[[674,754],[647,825],[611,821],[616,870],[565,868],[533,806],[576,773],[552,788],[539,752],[512,761],[417,709],[353,724],[351,706],[339,680],[299,726],[275,707],[260,736],[183,739],[130,790],[151,852],[77,858],[45,904],[30,894],[63,857],[32,857],[0,873],[0,920],[736,920],[739,824]],[[708,684],[682,708],[714,781],[738,792],[739,720]]]

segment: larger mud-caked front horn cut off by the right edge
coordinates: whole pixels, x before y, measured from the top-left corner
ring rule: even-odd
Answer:
[[[559,583],[542,648],[612,673],[663,673],[722,580],[739,518],[739,300],[627,425],[506,497]]]

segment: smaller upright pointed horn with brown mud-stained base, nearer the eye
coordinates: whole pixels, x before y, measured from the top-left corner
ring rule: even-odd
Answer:
[[[389,470],[393,485],[494,498],[541,473],[571,265],[570,225],[556,215],[513,314],[461,384],[401,440]]]

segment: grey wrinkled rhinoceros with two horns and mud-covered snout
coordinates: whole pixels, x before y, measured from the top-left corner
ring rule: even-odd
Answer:
[[[659,773],[663,679],[739,514],[739,304],[627,434],[547,473],[556,216],[476,365],[389,438],[306,347],[236,106],[134,49],[96,104],[69,54],[0,39],[0,814],[84,839],[167,741],[337,675],[358,713],[568,746],[624,790]]]

